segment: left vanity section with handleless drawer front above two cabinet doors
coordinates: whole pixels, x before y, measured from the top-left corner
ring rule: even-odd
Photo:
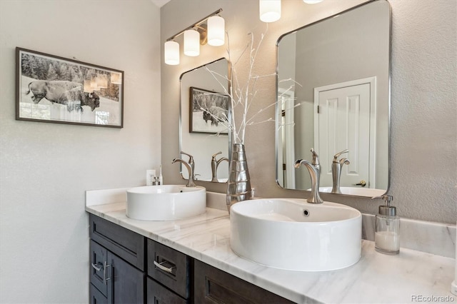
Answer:
[[[144,303],[144,236],[89,216],[90,303]]]

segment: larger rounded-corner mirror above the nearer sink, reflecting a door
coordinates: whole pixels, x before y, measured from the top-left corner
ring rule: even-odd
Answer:
[[[276,179],[309,190],[299,158],[321,164],[320,191],[331,192],[336,153],[341,193],[377,196],[389,181],[391,8],[370,1],[284,34],[277,47]],[[370,190],[372,189],[372,190]]]

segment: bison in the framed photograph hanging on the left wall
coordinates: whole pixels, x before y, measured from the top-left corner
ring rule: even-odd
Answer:
[[[75,109],[83,112],[83,106],[89,106],[94,111],[100,106],[100,97],[96,93],[84,92],[83,85],[73,81],[31,81],[26,95],[29,93],[32,93],[31,100],[34,103],[46,98],[52,103],[66,105],[69,112]],[[75,106],[78,101],[79,106]]]

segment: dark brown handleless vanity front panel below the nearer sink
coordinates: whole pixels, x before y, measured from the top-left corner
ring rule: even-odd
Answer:
[[[194,260],[194,302],[293,303],[199,260]]]

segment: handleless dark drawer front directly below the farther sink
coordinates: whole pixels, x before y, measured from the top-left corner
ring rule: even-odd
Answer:
[[[134,231],[89,215],[90,237],[112,253],[119,255],[140,270],[144,270],[146,238]]]

